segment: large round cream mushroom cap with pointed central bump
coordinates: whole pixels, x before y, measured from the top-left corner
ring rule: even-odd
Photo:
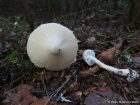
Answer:
[[[76,59],[78,40],[71,30],[47,23],[36,28],[29,36],[27,53],[36,66],[47,70],[63,70]]]

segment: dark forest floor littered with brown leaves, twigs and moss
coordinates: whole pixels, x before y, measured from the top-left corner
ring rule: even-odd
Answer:
[[[92,49],[103,63],[139,72],[140,30],[132,31],[130,24],[123,23],[118,17],[120,16],[99,21],[100,17],[91,15],[74,26],[73,32],[80,41],[77,61],[65,69],[64,73],[34,66],[26,51],[28,36],[31,33],[29,25],[20,17],[2,18],[1,103],[3,105],[93,105],[93,103],[94,105],[110,103],[139,105],[140,78],[129,82],[127,76],[114,74],[98,65],[89,66],[82,58],[84,50]],[[55,22],[71,28],[74,21],[74,19],[62,21],[60,18]],[[39,24],[41,23],[35,23],[35,27]],[[66,84],[60,89],[65,82]]]

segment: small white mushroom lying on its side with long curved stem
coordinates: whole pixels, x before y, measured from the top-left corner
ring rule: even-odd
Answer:
[[[95,52],[93,50],[85,50],[83,53],[83,58],[87,62],[88,65],[93,65],[94,62],[98,64],[101,68],[104,68],[108,71],[112,71],[116,74],[122,75],[122,76],[127,76],[127,80],[129,82],[132,82],[135,80],[137,77],[139,77],[138,72],[132,70],[132,73],[130,73],[129,69],[118,69],[114,68],[112,66],[106,65],[99,61],[97,58],[95,58]]]

